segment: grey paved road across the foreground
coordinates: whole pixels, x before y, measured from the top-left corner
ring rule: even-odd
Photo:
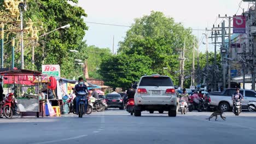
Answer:
[[[0,119],[1,143],[256,143],[256,113],[226,121],[206,120],[210,112],[167,117],[143,112],[142,117],[111,109],[84,118],[74,115],[46,118]]]

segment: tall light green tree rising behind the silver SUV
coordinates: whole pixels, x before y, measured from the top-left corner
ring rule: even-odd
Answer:
[[[173,18],[166,17],[159,11],[152,11],[150,15],[135,19],[131,29],[126,32],[124,41],[120,42],[119,53],[126,55],[148,56],[152,65],[149,68],[159,74],[164,74],[164,67],[168,68],[168,75],[172,76],[175,85],[178,85],[179,53],[184,41],[186,57],[190,56],[194,35],[191,29],[184,28],[181,23],[174,22]],[[189,59],[191,59],[189,57]]]

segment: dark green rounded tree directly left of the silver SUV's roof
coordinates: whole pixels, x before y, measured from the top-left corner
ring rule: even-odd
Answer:
[[[112,88],[128,88],[144,74],[152,74],[152,64],[148,56],[113,55],[105,57],[100,65],[100,74],[105,85]]]

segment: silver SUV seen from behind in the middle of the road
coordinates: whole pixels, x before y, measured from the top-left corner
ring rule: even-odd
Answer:
[[[168,76],[142,76],[138,82],[134,99],[134,115],[141,116],[141,111],[168,111],[168,116],[176,117],[177,95]]]

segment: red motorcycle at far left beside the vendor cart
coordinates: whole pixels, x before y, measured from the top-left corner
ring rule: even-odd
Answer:
[[[15,103],[15,98],[13,98],[13,93],[8,93],[7,97],[4,99],[3,114],[6,118],[12,118],[17,111],[17,105]]]

